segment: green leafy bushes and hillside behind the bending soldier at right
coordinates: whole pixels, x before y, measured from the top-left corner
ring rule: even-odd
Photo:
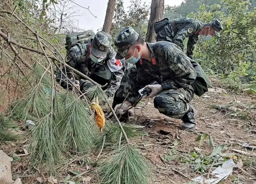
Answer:
[[[202,22],[218,18],[224,30],[220,38],[199,38],[195,59],[210,74],[217,74],[240,92],[241,84],[255,83],[256,3],[244,0],[187,0],[177,7],[166,7],[169,20],[191,17]]]

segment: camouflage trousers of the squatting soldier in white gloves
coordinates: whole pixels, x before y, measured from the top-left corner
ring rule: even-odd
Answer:
[[[117,104],[122,103],[127,95],[132,96],[132,103],[136,101],[137,97],[140,95],[138,90],[145,87],[137,85],[136,79],[137,69],[136,67],[130,67],[124,74],[120,87],[115,93],[113,108]],[[136,92],[136,94],[132,94],[132,92]],[[180,119],[188,111],[189,102],[193,99],[193,97],[194,89],[191,85],[185,89],[180,88],[164,90],[156,95],[154,99],[154,107],[157,108],[161,114]]]

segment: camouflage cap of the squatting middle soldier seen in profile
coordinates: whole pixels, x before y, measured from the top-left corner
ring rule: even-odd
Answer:
[[[117,46],[116,59],[123,59],[130,46],[136,42],[138,37],[139,34],[132,27],[129,26],[122,29],[115,41],[115,45]]]

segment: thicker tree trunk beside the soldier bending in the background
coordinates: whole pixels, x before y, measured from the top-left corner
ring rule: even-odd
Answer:
[[[152,0],[151,11],[148,21],[148,31],[146,35],[146,42],[156,42],[156,33],[154,30],[154,23],[162,20],[164,17],[164,0]]]

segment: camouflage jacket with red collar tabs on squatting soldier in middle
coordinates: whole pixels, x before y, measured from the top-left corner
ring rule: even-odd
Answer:
[[[151,61],[140,59],[136,63],[139,90],[152,81],[162,85],[163,90],[186,88],[196,79],[196,70],[184,52],[173,43],[160,41],[147,43]],[[136,91],[130,92],[127,101],[132,104],[136,100]]]

